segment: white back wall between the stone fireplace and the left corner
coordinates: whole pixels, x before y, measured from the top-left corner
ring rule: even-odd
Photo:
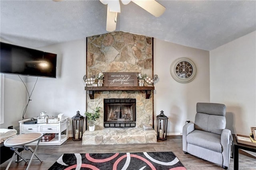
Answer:
[[[57,54],[57,78],[38,78],[32,101],[28,107],[29,117],[48,111],[49,116],[64,113],[73,117],[76,111],[84,115],[85,90],[83,76],[86,72],[86,40],[70,41],[39,48]],[[33,88],[35,77],[28,78],[28,87]],[[72,133],[70,119],[69,133]]]

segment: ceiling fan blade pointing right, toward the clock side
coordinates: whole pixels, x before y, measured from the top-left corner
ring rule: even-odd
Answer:
[[[149,12],[155,17],[161,16],[166,8],[155,0],[132,0],[135,4]]]

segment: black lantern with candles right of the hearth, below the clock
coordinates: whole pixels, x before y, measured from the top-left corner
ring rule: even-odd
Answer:
[[[166,140],[167,138],[167,120],[168,117],[161,111],[160,115],[156,116],[157,121],[157,139]]]

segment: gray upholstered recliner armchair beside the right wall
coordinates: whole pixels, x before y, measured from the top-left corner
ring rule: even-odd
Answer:
[[[182,131],[182,148],[204,160],[228,169],[232,136],[226,127],[226,106],[215,103],[196,104],[195,123],[187,123]]]

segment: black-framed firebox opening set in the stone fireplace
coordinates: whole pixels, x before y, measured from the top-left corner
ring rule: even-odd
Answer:
[[[104,99],[104,127],[136,127],[136,99]]]

